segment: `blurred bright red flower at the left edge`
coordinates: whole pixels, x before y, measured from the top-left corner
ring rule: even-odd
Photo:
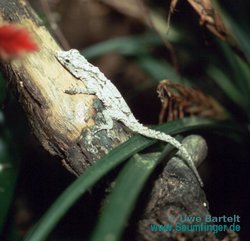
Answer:
[[[26,29],[14,24],[0,26],[0,58],[9,59],[37,50],[37,44]]]

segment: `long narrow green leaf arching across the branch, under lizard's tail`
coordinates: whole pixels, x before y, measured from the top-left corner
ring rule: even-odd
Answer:
[[[164,131],[168,134],[178,134],[184,131],[212,128],[227,128],[224,133],[234,131],[232,126],[225,124],[217,125],[214,121],[201,118],[188,118],[178,121],[172,121],[160,127],[157,130]],[[237,129],[236,129],[237,131]],[[93,166],[87,169],[78,179],[76,179],[53,203],[49,210],[34,226],[25,241],[43,241],[53,230],[60,219],[66,214],[69,208],[100,178],[112,170],[115,166],[132,156],[133,154],[149,147],[156,143],[156,140],[148,139],[143,136],[134,136],[127,142],[119,145],[112,150],[108,155],[96,162]]]

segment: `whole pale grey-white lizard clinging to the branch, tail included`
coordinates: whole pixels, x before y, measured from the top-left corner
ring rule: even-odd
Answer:
[[[106,124],[100,126],[99,130],[110,130],[113,127],[113,120],[120,121],[132,132],[143,136],[170,143],[180,151],[189,168],[193,171],[200,185],[203,182],[194,165],[194,162],[184,146],[171,135],[150,129],[142,125],[131,112],[126,101],[114,84],[99,70],[92,65],[76,49],[69,51],[57,51],[55,57],[60,64],[67,69],[75,78],[84,83],[84,88],[72,86],[66,90],[67,94],[93,94],[103,103],[103,116]]]

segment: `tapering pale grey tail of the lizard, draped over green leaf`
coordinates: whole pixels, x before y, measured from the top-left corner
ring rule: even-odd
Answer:
[[[201,177],[196,169],[196,166],[193,162],[193,159],[191,158],[187,149],[179,141],[177,141],[174,137],[172,137],[168,134],[165,134],[165,133],[160,132],[160,131],[149,129],[146,126],[143,126],[142,124],[140,124],[140,128],[138,128],[137,133],[139,133],[143,136],[149,137],[149,138],[158,139],[158,140],[167,142],[167,143],[171,144],[172,146],[176,147],[178,150],[180,150],[182,157],[185,159],[187,165],[193,171],[193,173],[196,176],[197,180],[199,181],[200,185],[203,187],[203,182],[202,182]]]

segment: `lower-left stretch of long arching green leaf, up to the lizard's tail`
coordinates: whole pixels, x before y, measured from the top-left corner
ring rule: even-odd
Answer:
[[[35,225],[25,238],[25,241],[45,240],[59,220],[69,208],[84,194],[95,182],[102,178],[115,166],[126,160],[129,156],[152,145],[155,140],[140,136],[131,138],[128,142],[112,150],[107,156],[96,162],[74,181],[53,203],[45,215]]]

